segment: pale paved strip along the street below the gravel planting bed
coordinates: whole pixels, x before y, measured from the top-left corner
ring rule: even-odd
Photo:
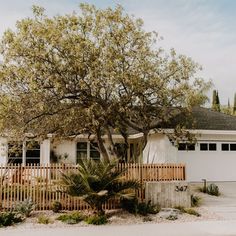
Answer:
[[[235,236],[236,220],[37,229],[0,229],[1,236]]]

